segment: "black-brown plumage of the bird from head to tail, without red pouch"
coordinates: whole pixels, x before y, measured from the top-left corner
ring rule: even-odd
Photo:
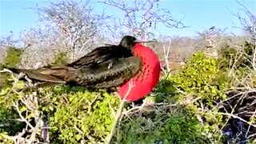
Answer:
[[[136,38],[125,36],[118,46],[101,46],[66,66],[37,70],[10,69],[40,82],[109,88],[128,81],[141,70],[141,60],[132,54]]]

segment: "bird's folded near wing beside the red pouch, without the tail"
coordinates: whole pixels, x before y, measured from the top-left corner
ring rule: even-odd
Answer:
[[[137,57],[118,58],[111,68],[107,62],[102,62],[96,67],[81,68],[74,83],[95,88],[119,86],[138,74],[141,68],[142,62]]]

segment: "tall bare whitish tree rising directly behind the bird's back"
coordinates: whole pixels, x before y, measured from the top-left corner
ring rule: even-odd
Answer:
[[[50,6],[39,9],[42,18],[56,26],[73,61],[91,50],[97,36],[98,17],[92,10],[89,1],[51,2]]]

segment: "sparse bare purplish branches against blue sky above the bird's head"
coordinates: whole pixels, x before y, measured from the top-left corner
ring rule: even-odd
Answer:
[[[168,28],[182,29],[182,20],[175,20],[169,10],[162,9],[159,6],[160,0],[105,0],[102,3],[113,6],[123,13],[123,19],[120,20],[118,27],[122,32],[125,30],[128,33],[144,38],[153,38],[154,32],[159,24],[163,24]],[[113,34],[114,32],[112,32]]]

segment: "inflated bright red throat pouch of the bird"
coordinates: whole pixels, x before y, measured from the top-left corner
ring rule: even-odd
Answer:
[[[134,56],[141,59],[142,70],[118,88],[120,98],[126,97],[126,102],[138,101],[150,94],[159,82],[161,71],[158,56],[149,47],[136,43],[132,52]]]

